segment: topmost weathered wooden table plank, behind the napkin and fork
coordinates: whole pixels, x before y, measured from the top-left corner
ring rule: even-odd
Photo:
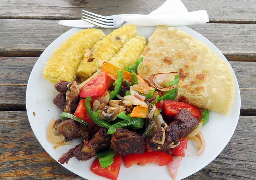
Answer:
[[[80,19],[81,10],[86,9],[102,15],[113,14],[149,14],[165,0],[0,0],[1,18],[16,19]],[[182,0],[188,11],[207,10],[212,22],[256,23],[256,4],[249,0]]]

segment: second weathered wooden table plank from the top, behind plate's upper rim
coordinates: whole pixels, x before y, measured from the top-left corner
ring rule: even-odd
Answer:
[[[0,24],[0,56],[39,57],[52,41],[71,29],[58,25],[57,20],[0,19]],[[256,24],[189,27],[208,38],[229,60],[256,61]]]

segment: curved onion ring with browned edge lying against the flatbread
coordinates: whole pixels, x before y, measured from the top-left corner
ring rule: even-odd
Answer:
[[[157,74],[151,74],[150,75],[150,81],[153,84],[153,86],[161,91],[170,91],[171,89],[175,88],[175,85],[169,86],[169,87],[162,87],[162,83],[166,81],[170,77],[174,77],[177,75],[178,72],[165,72],[165,73],[157,73]]]

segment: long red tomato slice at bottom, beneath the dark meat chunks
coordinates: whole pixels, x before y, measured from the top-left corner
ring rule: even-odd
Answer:
[[[163,166],[172,161],[172,156],[162,151],[145,151],[143,154],[128,154],[123,156],[123,161],[126,167],[131,167],[132,164],[151,164],[157,163]]]

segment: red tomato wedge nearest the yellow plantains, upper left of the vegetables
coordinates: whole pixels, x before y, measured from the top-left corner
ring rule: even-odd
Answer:
[[[80,97],[98,97],[108,89],[108,76],[105,72],[87,82],[80,90]]]

